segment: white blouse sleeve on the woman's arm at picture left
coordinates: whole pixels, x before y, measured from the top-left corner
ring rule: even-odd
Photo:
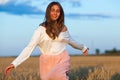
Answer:
[[[14,65],[15,68],[30,57],[32,51],[38,44],[40,35],[41,35],[41,30],[40,28],[38,28],[35,30],[29,44],[23,49],[20,55],[11,63]]]

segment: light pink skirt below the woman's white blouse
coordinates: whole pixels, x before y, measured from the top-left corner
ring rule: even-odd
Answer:
[[[70,70],[70,56],[67,51],[59,55],[40,56],[41,80],[69,80],[67,76]]]

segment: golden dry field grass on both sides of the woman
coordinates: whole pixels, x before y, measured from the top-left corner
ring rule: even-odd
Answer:
[[[15,58],[0,58],[0,80],[40,80],[39,57],[30,57],[12,71],[4,69]],[[120,80],[120,56],[71,56],[70,80]]]

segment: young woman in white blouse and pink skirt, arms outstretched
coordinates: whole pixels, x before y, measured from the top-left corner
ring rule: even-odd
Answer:
[[[70,69],[70,56],[66,51],[66,45],[79,49],[83,54],[88,54],[88,48],[73,41],[64,24],[64,11],[59,2],[51,2],[45,15],[45,21],[35,30],[27,47],[6,68],[5,74],[30,57],[36,46],[41,51],[40,77],[41,80],[68,80]]]

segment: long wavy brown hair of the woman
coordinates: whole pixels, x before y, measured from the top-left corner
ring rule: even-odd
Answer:
[[[60,16],[56,21],[51,20],[50,18],[50,10],[53,5],[57,5],[60,8]],[[46,28],[46,33],[53,40],[59,36],[62,28],[64,27],[64,11],[59,2],[51,2],[45,14],[45,21],[41,24]]]

